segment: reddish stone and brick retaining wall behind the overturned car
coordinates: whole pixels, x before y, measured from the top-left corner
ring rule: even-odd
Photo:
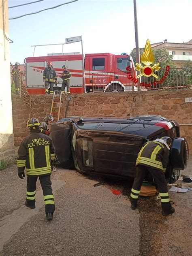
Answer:
[[[169,90],[151,92],[119,92],[98,94],[71,94],[66,116],[116,116],[162,115],[179,124],[192,124],[192,90]],[[68,96],[63,97],[60,117],[64,117]],[[31,117],[43,117],[51,108],[51,95],[32,96],[32,113],[28,107],[13,96],[13,132],[15,145],[28,135],[26,122]],[[192,154],[192,127],[181,126],[181,136],[187,137]]]

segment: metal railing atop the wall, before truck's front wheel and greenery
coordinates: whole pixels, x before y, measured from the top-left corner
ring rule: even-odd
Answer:
[[[141,77],[141,90],[173,90],[192,88],[192,67],[190,68],[170,68],[166,73],[166,68],[162,68],[154,76]],[[137,90],[136,71],[129,74],[125,72],[99,72],[92,73],[92,92],[125,92]],[[131,78],[132,77],[132,78]]]

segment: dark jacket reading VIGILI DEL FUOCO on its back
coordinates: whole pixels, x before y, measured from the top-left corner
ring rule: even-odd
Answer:
[[[30,176],[50,175],[51,160],[55,159],[55,148],[52,140],[40,130],[32,130],[22,142],[18,150],[18,172]]]

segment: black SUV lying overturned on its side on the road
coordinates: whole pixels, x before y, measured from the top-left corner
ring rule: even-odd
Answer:
[[[174,183],[188,163],[188,143],[180,137],[179,125],[160,115],[69,117],[49,128],[61,165],[81,173],[134,177],[142,145],[163,136],[173,141],[167,182]]]

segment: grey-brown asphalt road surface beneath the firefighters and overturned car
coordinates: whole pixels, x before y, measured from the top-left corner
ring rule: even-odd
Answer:
[[[192,192],[170,192],[176,212],[163,217],[155,196],[130,209],[131,183],[64,169],[51,179],[56,210],[48,222],[39,182],[32,210],[24,206],[26,178],[19,179],[17,167],[0,173],[0,255],[192,255]],[[105,184],[94,187],[99,181]]]

